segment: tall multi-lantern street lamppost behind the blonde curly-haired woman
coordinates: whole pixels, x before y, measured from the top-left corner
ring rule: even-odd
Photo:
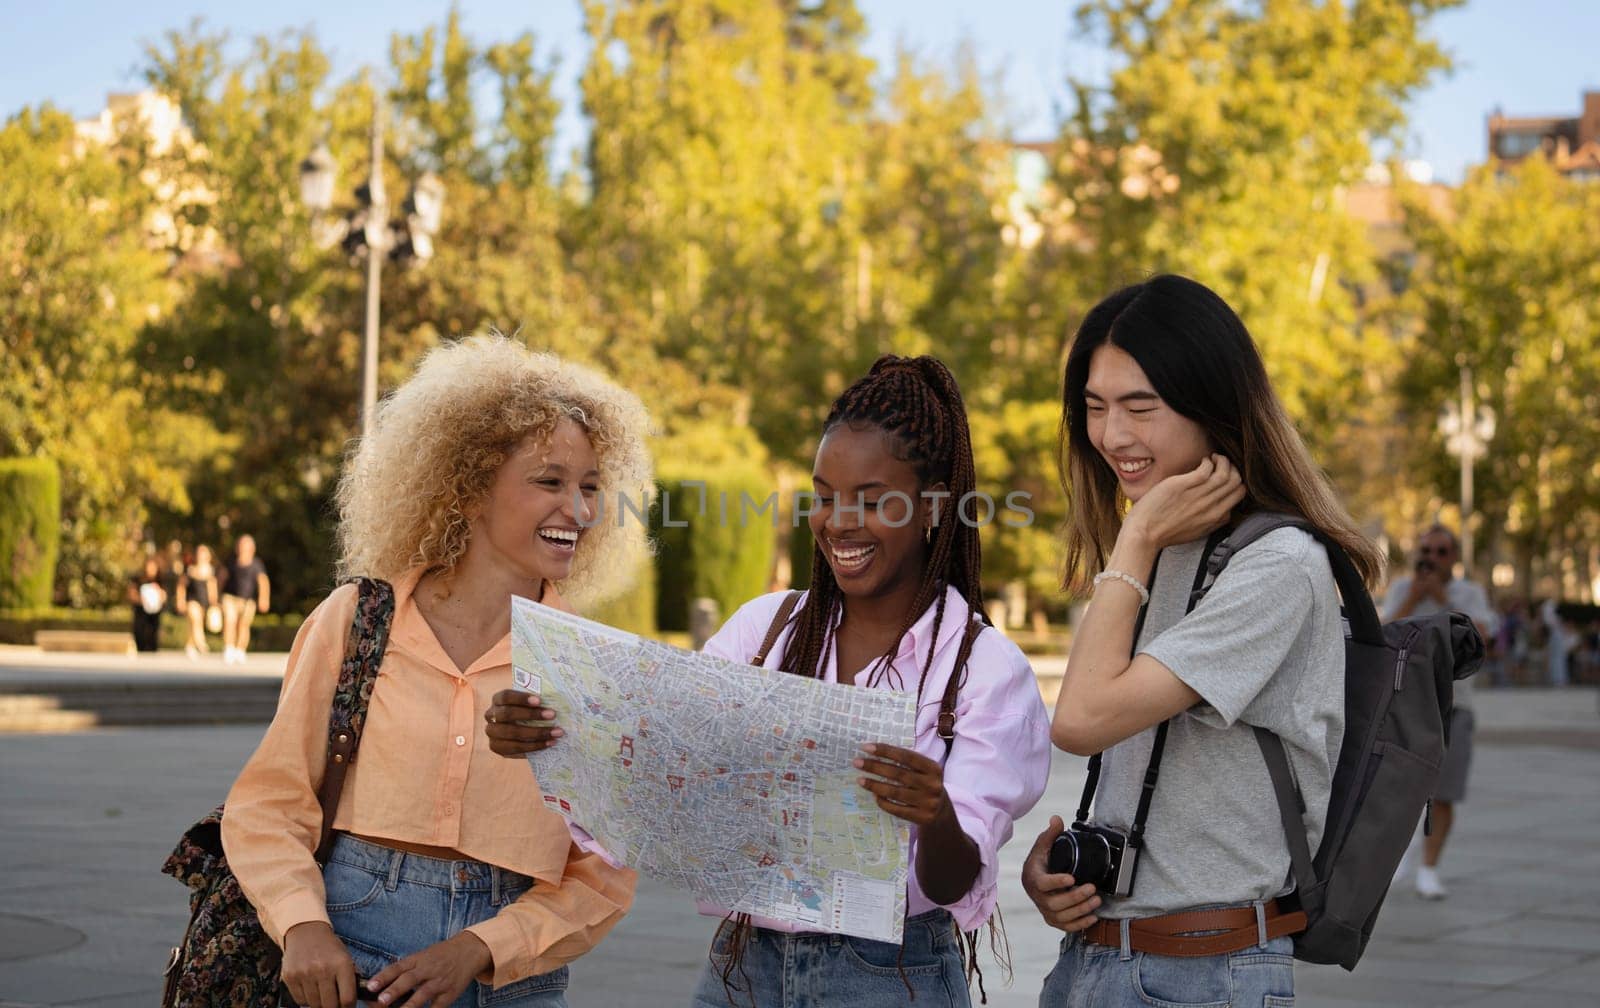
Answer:
[[[389,221],[384,197],[384,99],[373,88],[371,160],[366,184],[355,190],[357,208],[342,221],[328,222],[322,214],[333,208],[334,162],[328,144],[318,144],[301,162],[301,202],[312,211],[312,229],[318,245],[342,243],[352,258],[366,256],[366,326],[362,338],[362,437],[373,430],[378,406],[378,291],[382,262],[426,262],[434,256],[434,235],[445,211],[445,184],[434,173],[424,173],[411,184],[402,210],[405,219]]]

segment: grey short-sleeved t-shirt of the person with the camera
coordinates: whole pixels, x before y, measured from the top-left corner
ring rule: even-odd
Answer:
[[[1251,725],[1275,731],[1306,797],[1317,850],[1344,736],[1344,624],[1328,554],[1280,528],[1234,557],[1184,614],[1205,542],[1162,550],[1139,651],[1205,702],[1173,718],[1133,894],[1101,917],[1270,899],[1290,854]],[[1106,750],[1094,819],[1126,830],[1150,760],[1150,728]]]

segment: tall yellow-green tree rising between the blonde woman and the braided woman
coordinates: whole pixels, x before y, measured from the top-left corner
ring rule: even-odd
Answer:
[[[669,0],[592,2],[586,16],[592,134],[587,198],[566,229],[574,267],[608,325],[675,362],[678,389],[744,390],[722,419],[794,454],[858,363],[840,264],[853,262],[846,158],[870,110],[859,14]]]

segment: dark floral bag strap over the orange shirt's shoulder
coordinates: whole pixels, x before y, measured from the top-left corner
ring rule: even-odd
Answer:
[[[333,706],[328,710],[328,765],[322,773],[317,802],[322,805],[322,834],[317,842],[317,862],[325,864],[333,848],[333,816],[339,810],[344,792],[344,774],[355,762],[355,749],[362,744],[366,726],[366,702],[378,682],[378,667],[389,646],[389,626],[395,614],[395,592],[387,581],[358,578],[355,616],[350,632],[344,637],[344,661],[339,662],[339,683],[333,690]]]

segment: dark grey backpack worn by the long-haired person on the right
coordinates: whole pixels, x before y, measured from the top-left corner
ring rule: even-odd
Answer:
[[[1400,858],[1432,802],[1450,742],[1453,683],[1477,672],[1483,638],[1462,613],[1381,624],[1366,586],[1338,542],[1304,518],[1267,512],[1246,517],[1211,550],[1190,608],[1234,554],[1278,528],[1310,533],[1328,550],[1346,624],[1344,741],[1315,856],[1302,818],[1306,800],[1290,773],[1283,739],[1253,728],[1288,840],[1291,899],[1307,918],[1306,930],[1294,936],[1294,958],[1355,970]]]

